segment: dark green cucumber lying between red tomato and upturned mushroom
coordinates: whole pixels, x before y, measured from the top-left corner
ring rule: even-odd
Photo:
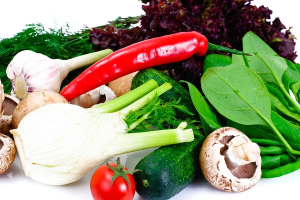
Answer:
[[[136,192],[145,199],[164,200],[179,193],[200,172],[199,153],[204,136],[191,142],[161,146],[142,158],[133,173]],[[144,184],[147,180],[148,185]]]

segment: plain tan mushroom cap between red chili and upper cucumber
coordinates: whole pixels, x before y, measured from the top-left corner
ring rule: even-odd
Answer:
[[[121,96],[121,95],[127,93],[128,91],[130,91],[131,80],[137,72],[138,71],[135,71],[133,73],[124,75],[118,79],[115,79],[115,80],[109,82],[108,87],[110,87],[112,89],[112,91],[114,91],[116,96]]]

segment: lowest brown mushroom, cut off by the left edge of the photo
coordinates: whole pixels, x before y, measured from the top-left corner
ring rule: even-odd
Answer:
[[[0,133],[0,175],[12,164],[16,154],[13,140],[7,135]]]

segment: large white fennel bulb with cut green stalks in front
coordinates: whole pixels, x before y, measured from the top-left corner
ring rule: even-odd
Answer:
[[[176,129],[127,133],[128,113],[171,88],[168,83],[157,86],[150,80],[91,108],[54,103],[28,113],[11,130],[26,176],[45,184],[68,184],[112,156],[192,141],[192,129],[184,129],[186,122]]]

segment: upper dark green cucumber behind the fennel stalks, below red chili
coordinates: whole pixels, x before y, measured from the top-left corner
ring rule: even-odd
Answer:
[[[146,68],[138,71],[132,78],[131,90],[142,85],[150,79],[154,79],[158,85],[161,85],[164,82],[168,82],[172,85],[171,89],[167,90],[159,96],[160,99],[164,101],[170,101],[171,99],[178,100],[179,98],[181,98],[179,104],[185,105],[185,107],[194,114],[190,115],[176,110],[176,118],[185,120],[186,118],[193,116],[193,118],[197,120],[199,119],[198,112],[191,101],[189,92],[174,79],[158,71],[157,69]]]

